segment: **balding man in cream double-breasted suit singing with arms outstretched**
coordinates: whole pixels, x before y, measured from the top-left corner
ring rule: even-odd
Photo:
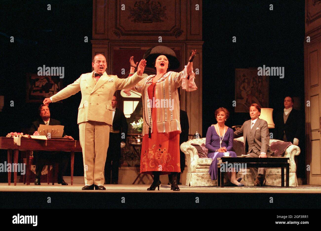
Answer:
[[[146,61],[142,59],[137,72],[126,79],[106,74],[107,62],[102,54],[96,55],[91,65],[93,72],[82,74],[43,103],[57,102],[81,91],[77,123],[84,165],[85,186],[82,190],[106,190],[103,183],[113,115],[111,99],[116,90],[130,88],[143,79]]]

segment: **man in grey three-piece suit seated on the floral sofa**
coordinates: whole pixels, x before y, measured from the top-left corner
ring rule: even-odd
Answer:
[[[261,107],[253,103],[249,109],[251,120],[245,121],[242,127],[234,132],[234,135],[243,136],[247,157],[270,157],[273,154],[269,146],[270,133],[267,122],[259,118]],[[250,170],[255,178],[254,186],[263,186],[266,168],[250,168]]]

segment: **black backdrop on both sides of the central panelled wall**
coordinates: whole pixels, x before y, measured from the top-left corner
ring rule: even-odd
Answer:
[[[26,73],[35,73],[43,65],[65,67],[66,86],[91,72],[92,1],[1,1],[0,15],[0,95],[5,100],[0,136],[5,136],[28,129],[38,117],[39,103],[26,103]],[[203,40],[203,67],[199,67],[203,70],[203,136],[216,122],[214,111],[219,107],[230,111],[228,126],[250,119],[248,113],[234,113],[232,107],[235,68],[284,67],[283,79],[270,77],[269,107],[282,110],[284,96],[293,95],[300,97],[304,114],[304,1],[203,1]],[[50,104],[51,117],[60,120],[75,139],[79,138],[80,100],[78,93]],[[298,177],[305,178],[304,146],[300,147]],[[2,163],[5,154],[1,150]],[[82,175],[82,169],[79,154],[74,175]],[[3,175],[0,181],[5,182]]]

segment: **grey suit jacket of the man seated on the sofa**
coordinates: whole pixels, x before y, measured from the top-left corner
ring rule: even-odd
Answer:
[[[247,154],[248,150],[246,150],[246,134],[247,131],[251,128],[251,120],[247,120],[243,123],[242,127],[239,130],[234,132],[235,136],[243,136],[244,138],[244,151]],[[254,124],[253,128],[255,129],[255,134],[253,137],[253,141],[255,146],[257,147],[260,152],[266,153],[266,155],[272,155],[273,151],[270,149],[270,133],[269,128],[267,126],[267,122],[265,120],[261,120],[260,118],[257,119],[256,123]]]

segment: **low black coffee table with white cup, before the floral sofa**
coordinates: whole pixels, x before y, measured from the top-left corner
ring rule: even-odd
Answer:
[[[289,157],[230,157],[222,156],[217,158],[217,186],[224,187],[224,172],[221,172],[222,164],[246,164],[247,168],[281,168],[281,187],[284,187],[284,168],[286,168],[286,186],[289,187],[290,158]]]

